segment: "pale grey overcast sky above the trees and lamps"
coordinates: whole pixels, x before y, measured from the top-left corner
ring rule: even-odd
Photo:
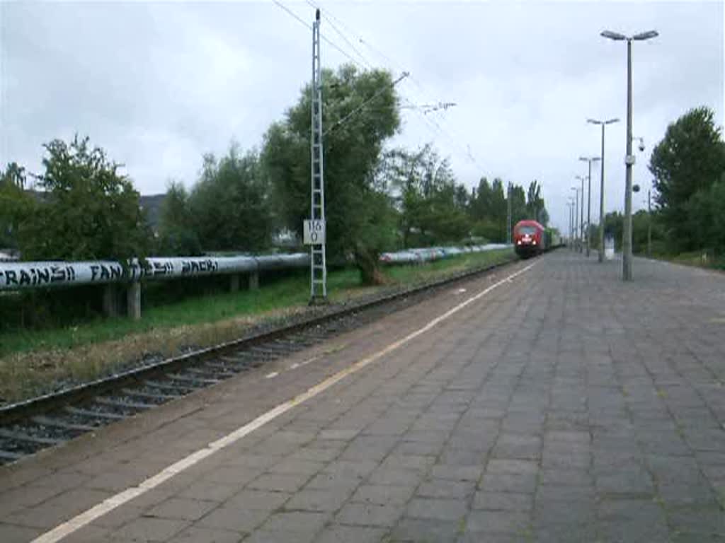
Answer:
[[[322,34],[360,64],[410,72],[398,87],[407,100],[457,104],[405,110],[392,144],[434,142],[468,187],[482,175],[537,179],[562,228],[586,169],[578,157],[600,153],[587,117],[623,120],[608,128],[605,162],[607,209],[623,207],[626,45],[602,30],[660,33],[633,46],[634,135],[647,146],[634,167],[645,188],[636,208],[646,206],[647,161],[669,122],[706,105],[723,124],[721,1],[315,3]],[[314,17],[305,2],[282,4]],[[143,194],[163,192],[170,178],[191,187],[202,153],[224,153],[232,139],[259,146],[294,104],[310,78],[310,41],[272,1],[0,0],[0,163],[41,172],[42,143],[78,132],[125,164]],[[328,43],[322,58],[325,67],[349,62]],[[592,185],[596,220],[598,167]]]

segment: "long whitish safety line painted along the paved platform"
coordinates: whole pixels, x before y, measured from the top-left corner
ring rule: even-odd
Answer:
[[[534,262],[534,264],[536,264],[536,262]],[[428,324],[426,324],[424,327],[415,330],[415,332],[407,334],[407,336],[403,337],[402,339],[387,345],[386,348],[378,350],[377,353],[363,358],[362,360],[359,360],[352,364],[352,366],[349,366],[346,369],[334,374],[333,376],[324,379],[322,382],[315,384],[314,387],[310,388],[306,392],[303,392],[301,395],[296,396],[291,400],[287,400],[284,403],[281,403],[276,408],[273,408],[270,411],[267,411],[266,413],[258,416],[253,421],[244,424],[244,426],[240,426],[238,429],[231,432],[231,434],[227,434],[224,437],[217,439],[216,441],[212,441],[203,449],[192,452],[190,455],[186,456],[186,458],[182,458],[178,462],[167,466],[166,468],[162,469],[162,471],[159,471],[159,473],[157,473],[156,475],[151,476],[149,477],[149,479],[146,479],[145,481],[138,484],[138,486],[125,489],[123,492],[119,492],[118,494],[107,498],[98,505],[95,505],[94,507],[84,511],[83,513],[80,513],[79,515],[76,515],[75,517],[71,518],[70,521],[59,524],[50,531],[46,531],[46,533],[36,537],[36,539],[33,539],[33,541],[30,543],[55,543],[57,541],[60,541],[64,537],[69,536],[75,531],[78,531],[79,529],[83,528],[83,526],[87,526],[91,522],[95,521],[97,518],[105,515],[106,513],[109,513],[120,505],[130,502],[130,500],[133,500],[133,498],[138,497],[141,494],[144,494],[145,492],[148,492],[149,490],[158,487],[159,484],[162,484],[163,482],[171,479],[177,473],[181,473],[182,471],[190,468],[191,466],[194,466],[196,463],[201,462],[202,460],[204,460],[204,458],[211,456],[218,450],[232,445],[233,443],[239,441],[239,439],[242,439],[243,437],[254,432],[254,430],[261,428],[268,422],[273,421],[278,416],[286,413],[291,408],[294,408],[296,405],[310,400],[310,398],[317,396],[318,394],[320,394],[320,392],[324,392],[325,390],[336,384],[336,382],[339,382],[341,379],[344,379],[350,374],[354,374],[356,371],[360,371],[361,369],[365,368],[365,366],[370,365],[370,363],[377,361],[391,351],[396,350],[402,345],[405,345],[406,343],[414,340],[419,335],[428,332],[428,330],[435,327],[436,324],[439,324],[439,322],[448,319],[450,316],[465,308],[465,306],[468,306],[476,300],[484,297],[486,294],[494,290],[494,288],[499,287],[503,283],[509,282],[517,275],[523,274],[523,272],[528,271],[529,269],[531,269],[532,266],[534,266],[534,264],[529,264],[529,266],[515,271],[508,277],[505,277],[504,279],[495,282],[493,285],[490,285],[484,290],[481,290],[481,292],[479,292],[478,294],[471,296],[471,298],[467,298],[454,308],[449,309],[442,315],[437,316],[432,321],[429,321]]]

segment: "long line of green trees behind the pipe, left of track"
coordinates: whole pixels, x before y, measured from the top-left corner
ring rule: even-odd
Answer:
[[[468,190],[433,146],[390,148],[400,116],[389,72],[344,66],[323,81],[328,256],[354,261],[363,281],[375,281],[381,251],[505,240],[509,203],[513,223],[547,222],[536,181],[525,190],[484,177]],[[25,190],[17,164],[0,172],[0,246],[24,260],[268,251],[281,232],[299,239],[310,212],[309,85],[259,149],[232,143],[203,157],[190,190],[170,182],[156,232],[128,175],[88,138],[44,149],[41,192]]]

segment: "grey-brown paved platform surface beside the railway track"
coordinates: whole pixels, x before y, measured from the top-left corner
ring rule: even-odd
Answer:
[[[725,276],[637,260],[625,284],[617,262],[566,250],[1,469],[0,542],[41,536],[532,262],[62,541],[725,542]]]

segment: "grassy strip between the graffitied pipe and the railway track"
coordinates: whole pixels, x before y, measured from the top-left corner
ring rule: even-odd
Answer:
[[[357,269],[328,274],[329,298],[342,303],[389,287],[415,285],[510,259],[512,251],[470,253],[384,269],[386,285],[360,286]],[[307,310],[309,277],[298,274],[259,290],[220,292],[144,307],[142,318],[98,319],[55,329],[0,332],[0,403],[95,379],[138,363],[232,340],[254,324]]]

